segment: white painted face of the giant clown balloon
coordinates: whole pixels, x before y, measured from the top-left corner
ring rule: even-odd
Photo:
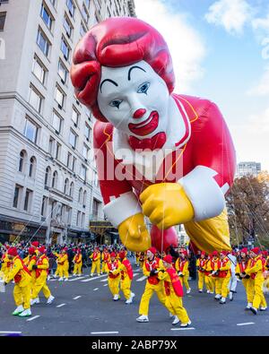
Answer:
[[[150,138],[167,130],[169,90],[145,61],[102,66],[98,105],[108,122],[128,135]]]

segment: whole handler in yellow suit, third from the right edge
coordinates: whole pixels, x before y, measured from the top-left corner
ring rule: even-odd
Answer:
[[[220,291],[220,304],[226,303],[226,298],[230,292],[230,259],[227,257],[226,251],[220,252],[220,259],[218,263],[218,271],[216,277],[216,289]],[[217,292],[219,294],[219,292]]]

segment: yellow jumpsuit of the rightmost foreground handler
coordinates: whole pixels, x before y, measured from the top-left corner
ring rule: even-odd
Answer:
[[[252,301],[253,307],[258,309],[261,307],[267,307],[265,295],[263,292],[264,285],[264,265],[261,257],[258,255],[256,258],[250,261],[249,268],[246,269],[246,274],[250,275],[251,283],[254,289],[254,298]]]

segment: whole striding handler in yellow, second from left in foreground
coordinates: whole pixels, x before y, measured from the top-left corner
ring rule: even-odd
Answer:
[[[55,299],[47,285],[48,278],[48,257],[46,255],[46,248],[41,246],[38,248],[38,259],[36,265],[33,265],[33,269],[36,270],[36,281],[34,289],[31,295],[30,305],[39,304],[39,292],[42,290],[45,298],[47,298],[47,304],[51,304]]]

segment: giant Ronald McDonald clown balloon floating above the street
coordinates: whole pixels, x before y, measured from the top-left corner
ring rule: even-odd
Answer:
[[[135,18],[100,22],[76,47],[71,78],[77,99],[98,120],[93,135],[104,212],[126,247],[165,250],[177,245],[173,226],[184,224],[198,248],[230,249],[224,200],[236,163],[230,133],[212,101],[173,93],[161,34]]]

